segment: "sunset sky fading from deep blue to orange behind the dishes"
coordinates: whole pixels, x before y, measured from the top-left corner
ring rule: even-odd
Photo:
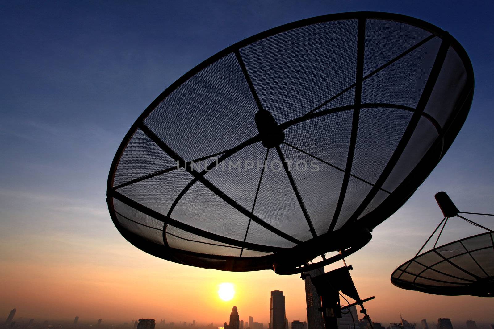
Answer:
[[[449,31],[470,56],[475,95],[441,163],[347,263],[361,296],[376,296],[367,303],[374,321],[398,321],[401,311],[409,321],[494,323],[493,299],[410,292],[389,280],[442,219],[436,192],[447,191],[462,211],[494,212],[492,1],[141,2],[0,4],[0,319],[16,307],[16,317],[40,320],[222,323],[237,305],[241,319],[267,324],[269,292],[282,290],[288,320],[305,321],[296,275],[193,268],[131,246],[108,214],[108,170],[137,116],[210,55],[298,19],[375,10]],[[480,232],[452,221],[440,241]],[[235,284],[232,301],[218,298],[222,282]]]

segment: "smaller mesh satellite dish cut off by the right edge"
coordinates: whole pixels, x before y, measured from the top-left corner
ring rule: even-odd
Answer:
[[[445,192],[435,197],[444,219],[415,257],[393,272],[391,282],[399,288],[439,295],[494,297],[494,231],[459,214],[494,215],[460,212]],[[453,217],[487,232],[436,247],[448,219]],[[420,254],[441,225],[433,249]]]

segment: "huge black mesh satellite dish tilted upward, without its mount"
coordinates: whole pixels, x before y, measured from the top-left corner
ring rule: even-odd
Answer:
[[[248,37],[135,121],[110,169],[111,217],[134,246],[181,264],[319,268],[366,245],[425,180],[473,85],[461,45],[403,15],[333,14]]]

